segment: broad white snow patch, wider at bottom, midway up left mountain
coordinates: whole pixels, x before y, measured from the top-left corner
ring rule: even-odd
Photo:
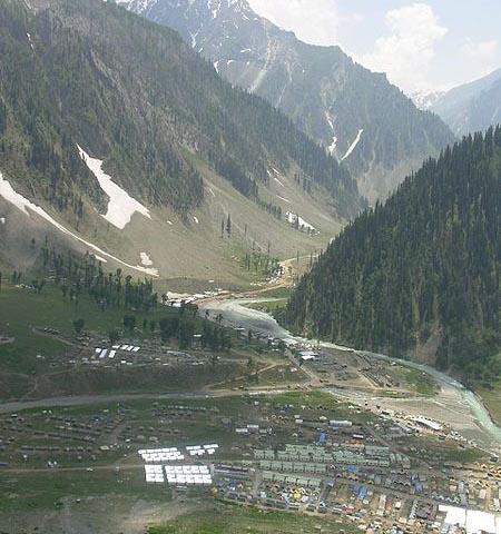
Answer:
[[[132,198],[126,190],[114,182],[110,176],[102,170],[102,161],[91,158],[79,145],[77,145],[81,159],[97,178],[101,189],[108,195],[108,211],[102,217],[114,226],[122,230],[137,211],[148,219],[151,218],[149,210]]]

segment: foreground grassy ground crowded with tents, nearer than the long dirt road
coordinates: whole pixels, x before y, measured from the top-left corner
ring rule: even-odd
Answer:
[[[497,498],[497,466],[480,451],[430,432],[396,433],[391,419],[317,390],[78,402],[0,417],[6,436],[0,452],[1,532],[199,534],[245,528],[296,534],[317,532],[320,525],[325,532],[351,533],[360,524],[400,521],[409,532],[421,533],[431,523],[416,521],[413,511],[428,511],[430,521],[442,524],[441,503],[460,505],[453,485],[461,479],[470,484],[472,507],[492,510]],[[333,431],[331,418],[351,421],[352,426]],[[236,432],[246,425],[259,431]],[[318,444],[322,433],[328,437]],[[357,441],[356,469],[354,458],[333,462],[353,454],[356,433],[364,435]],[[219,445],[212,458],[180,462],[209,466],[212,487],[145,482],[138,449],[184,449],[196,443]],[[298,454],[291,453],[294,447],[308,447],[323,459],[307,456],[294,468],[292,463],[259,459],[263,454]],[[279,482],[284,477],[288,483]],[[477,481],[484,481],[481,487]]]

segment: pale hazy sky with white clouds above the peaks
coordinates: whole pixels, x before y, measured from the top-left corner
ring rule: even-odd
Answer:
[[[501,67],[501,0],[249,0],[315,44],[340,44],[406,92],[448,89]]]

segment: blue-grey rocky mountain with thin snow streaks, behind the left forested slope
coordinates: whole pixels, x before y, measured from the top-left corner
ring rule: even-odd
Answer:
[[[384,75],[354,63],[338,47],[299,41],[258,17],[247,0],[116,1],[176,29],[224,78],[287,113],[350,167],[372,201],[454,140]]]

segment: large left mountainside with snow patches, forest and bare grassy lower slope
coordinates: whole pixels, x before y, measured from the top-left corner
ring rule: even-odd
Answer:
[[[365,205],[348,170],[285,115],[114,3],[0,0],[0,79],[11,265],[38,249],[21,231],[38,243],[50,227],[114,265],[206,278],[235,270],[234,249],[254,244],[314,250]]]

